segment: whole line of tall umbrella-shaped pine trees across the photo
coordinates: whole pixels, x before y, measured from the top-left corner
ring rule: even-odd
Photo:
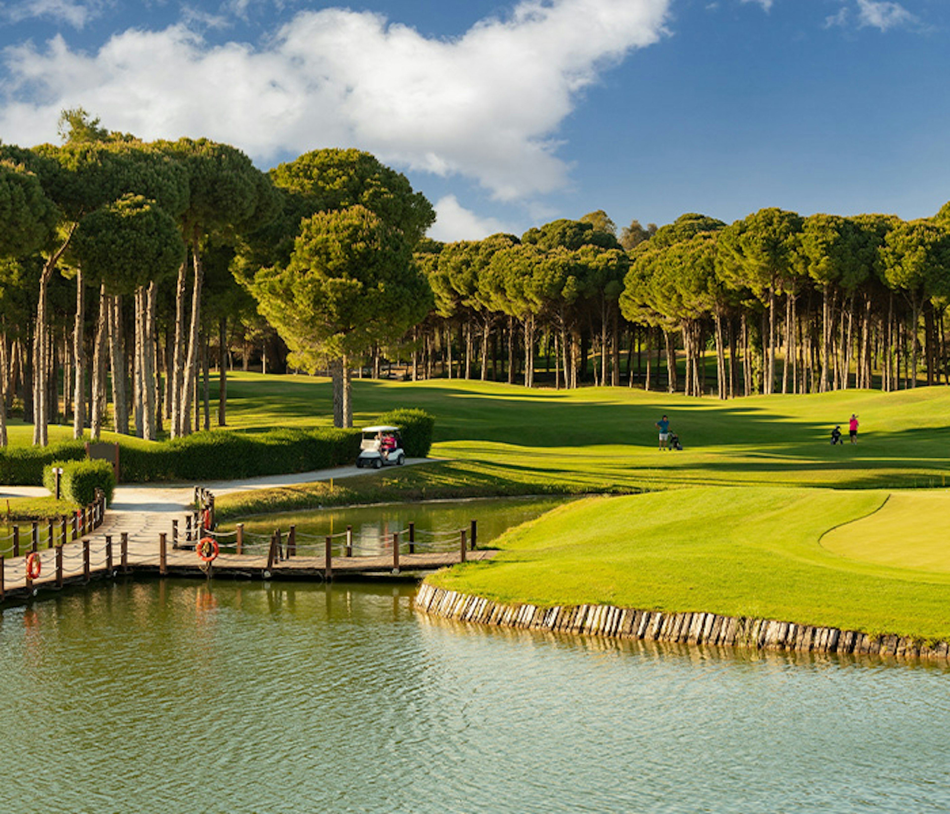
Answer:
[[[262,343],[333,376],[336,426],[352,425],[353,370],[393,359],[412,378],[720,398],[947,381],[950,204],[619,235],[599,211],[438,243],[428,200],[368,153],[261,172],[230,145],[142,142],[81,108],[61,134],[0,143],[0,403],[34,444],[66,416],[77,438],[208,427],[213,357],[224,426],[232,351],[246,366]]]

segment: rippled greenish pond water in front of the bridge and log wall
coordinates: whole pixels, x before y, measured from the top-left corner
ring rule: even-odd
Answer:
[[[129,581],[0,616],[5,812],[950,810],[950,673]]]

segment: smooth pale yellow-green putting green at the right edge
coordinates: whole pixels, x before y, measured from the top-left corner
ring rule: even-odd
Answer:
[[[950,493],[893,492],[874,514],[832,529],[821,544],[848,559],[950,574]]]

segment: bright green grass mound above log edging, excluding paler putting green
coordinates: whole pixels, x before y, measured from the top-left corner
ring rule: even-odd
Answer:
[[[490,562],[428,581],[502,602],[705,611],[948,638],[946,558],[940,572],[912,572],[821,544],[829,528],[859,525],[886,498],[773,487],[591,498],[508,532]]]

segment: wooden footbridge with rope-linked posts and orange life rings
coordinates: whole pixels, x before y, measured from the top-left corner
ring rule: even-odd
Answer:
[[[72,519],[14,525],[8,539],[0,540],[0,601],[136,574],[321,581],[413,577],[494,554],[476,548],[476,521],[441,536],[417,535],[410,523],[372,549],[353,540],[352,528],[317,537],[298,535],[291,526],[268,537],[245,534],[242,524],[232,532],[213,532],[201,521],[193,510],[135,513],[106,510],[97,502]],[[209,538],[217,554],[204,561],[196,545]]]

